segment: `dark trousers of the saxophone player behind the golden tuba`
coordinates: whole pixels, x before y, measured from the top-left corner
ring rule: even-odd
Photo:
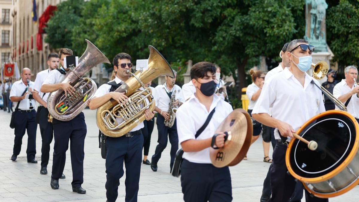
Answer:
[[[178,135],[177,135],[177,120],[174,120],[172,128],[168,128],[164,125],[164,117],[157,115],[157,129],[158,129],[158,145],[155,150],[155,154],[152,156],[152,161],[157,163],[161,158],[163,150],[167,146],[168,138],[171,143],[171,162],[169,164],[170,169],[173,167],[174,157],[176,157],[176,152],[178,150]],[[167,137],[168,135],[168,137]]]

